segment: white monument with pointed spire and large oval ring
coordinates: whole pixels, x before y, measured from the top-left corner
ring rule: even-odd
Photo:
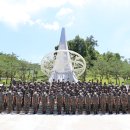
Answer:
[[[77,82],[86,68],[84,58],[74,51],[68,50],[65,29],[62,28],[58,50],[42,59],[41,70],[49,77],[49,82]]]

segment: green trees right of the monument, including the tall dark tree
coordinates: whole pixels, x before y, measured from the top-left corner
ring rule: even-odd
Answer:
[[[98,41],[91,35],[86,39],[77,35],[73,40],[68,41],[69,50],[73,50],[84,57],[86,61],[86,70],[80,80],[86,81],[91,77],[94,80],[107,80],[111,83],[111,79],[116,84],[120,84],[121,80],[126,82],[130,79],[129,59],[125,59],[119,53],[106,52],[99,53],[96,50]],[[55,47],[58,49],[58,46]]]

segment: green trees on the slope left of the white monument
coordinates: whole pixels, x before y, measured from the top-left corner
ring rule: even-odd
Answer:
[[[40,65],[19,59],[14,53],[0,53],[0,81],[7,84],[8,81],[36,81],[42,75]]]

